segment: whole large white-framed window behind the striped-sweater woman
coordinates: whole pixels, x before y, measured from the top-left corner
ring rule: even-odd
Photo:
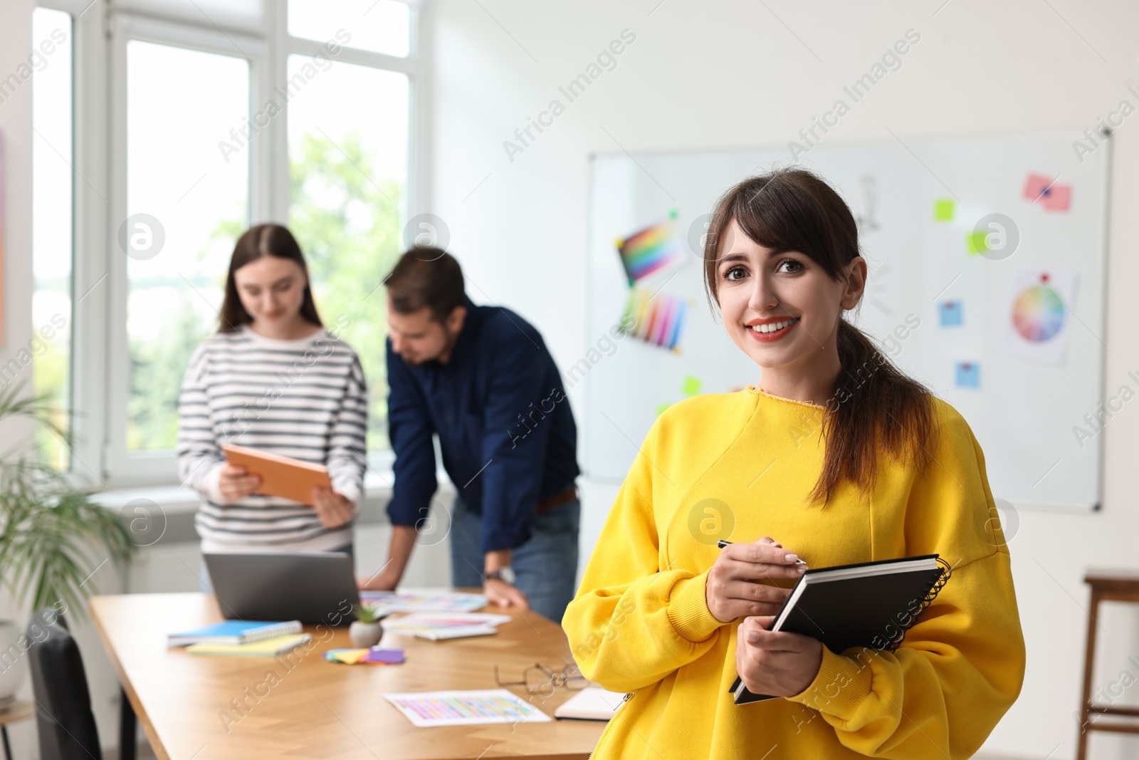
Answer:
[[[55,224],[44,246],[69,243],[58,220],[75,219],[75,265],[65,265],[72,247],[51,242],[41,255],[38,245],[35,308],[39,320],[66,307],[74,321],[36,363],[36,382],[82,410],[74,458],[107,487],[174,482],[181,381],[218,327],[233,243],[278,221],[309,259],[323,321],[360,354],[370,458],[390,463],[379,286],[417,210],[418,6],[96,0],[73,13],[79,81],[59,87],[68,107],[77,93],[75,119],[63,106],[44,119],[57,130],[75,122],[76,161],[74,171],[60,162],[55,185],[44,174],[54,189],[35,203],[36,219]],[[56,138],[68,155],[69,132]],[[50,161],[36,162],[41,182]],[[71,195],[75,207],[64,207]],[[72,289],[83,292],[74,320]],[[64,455],[51,456],[64,466]]]

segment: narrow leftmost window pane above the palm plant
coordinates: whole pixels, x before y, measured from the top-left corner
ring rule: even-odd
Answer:
[[[71,431],[72,377],[72,17],[36,8],[32,74],[32,387],[54,408],[52,423]],[[21,378],[23,381],[23,378]],[[21,382],[17,381],[17,382]],[[71,466],[69,450],[35,428],[40,461]]]

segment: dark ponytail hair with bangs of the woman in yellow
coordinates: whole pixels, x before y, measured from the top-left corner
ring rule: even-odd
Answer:
[[[735,220],[755,243],[776,251],[797,251],[833,280],[845,277],[859,255],[858,226],[843,199],[825,181],[802,169],[777,169],[752,177],[716,203],[704,246],[704,286],[719,307],[716,263]],[[906,376],[862,330],[838,321],[842,369],[822,415],[826,444],[822,472],[811,501],[830,500],[844,482],[869,493],[882,446],[899,461],[925,468],[926,448],[935,431],[933,395]]]

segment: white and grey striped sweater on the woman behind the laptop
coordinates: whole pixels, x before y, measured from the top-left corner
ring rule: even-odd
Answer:
[[[359,512],[367,467],[367,385],[355,352],[325,329],[295,341],[247,325],[206,338],[179,399],[178,474],[202,495],[203,551],[321,551],[352,542],[353,517],[328,529],[312,507],[277,497],[229,502],[221,446],[236,443],[328,467],[333,490]]]

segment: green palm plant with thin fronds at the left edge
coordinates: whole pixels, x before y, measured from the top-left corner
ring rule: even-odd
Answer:
[[[0,391],[0,422],[31,418],[69,448],[68,432],[50,419],[48,398],[21,398],[19,391]],[[91,574],[108,559],[133,555],[138,547],[118,515],[91,495],[16,447],[0,453],[0,583],[16,599],[83,618],[83,599],[96,586]]]

